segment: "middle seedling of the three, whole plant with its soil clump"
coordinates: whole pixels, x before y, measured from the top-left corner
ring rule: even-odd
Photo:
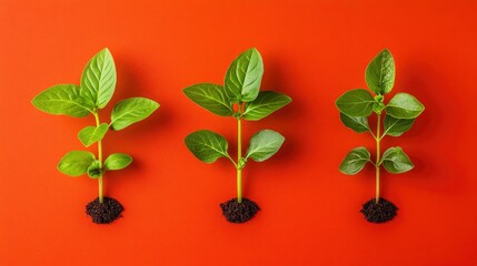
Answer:
[[[260,53],[250,49],[241,53],[227,70],[225,85],[199,83],[183,89],[186,96],[213,114],[237,120],[237,158],[228,153],[227,140],[208,130],[196,131],[186,137],[190,152],[205,163],[219,157],[228,158],[237,170],[237,198],[220,204],[228,222],[245,223],[259,209],[258,205],[242,197],[242,170],[249,158],[264,162],[281,147],[285,137],[272,130],[262,130],[250,139],[242,154],[242,120],[258,121],[291,102],[284,93],[259,91],[264,63]]]

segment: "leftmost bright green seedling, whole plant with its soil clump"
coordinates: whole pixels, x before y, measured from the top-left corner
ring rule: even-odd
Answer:
[[[112,197],[103,196],[102,178],[107,171],[127,167],[132,157],[125,153],[110,154],[103,160],[102,139],[109,130],[119,131],[148,117],[159,104],[146,98],[122,100],[112,109],[110,123],[100,122],[99,111],[111,100],[116,88],[116,66],[111,53],[103,49],[86,65],[80,85],[53,85],[38,94],[32,104],[50,114],[85,117],[92,114],[95,126],[86,126],[78,139],[86,146],[97,144],[98,154],[89,151],[71,151],[59,162],[58,170],[69,176],[88,174],[98,180],[99,196],[87,205],[93,223],[109,224],[119,217],[123,207]]]

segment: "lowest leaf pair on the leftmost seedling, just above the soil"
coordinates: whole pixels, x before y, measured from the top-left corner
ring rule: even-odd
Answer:
[[[105,171],[121,170],[132,162],[132,157],[125,153],[109,155],[103,167],[101,162],[96,160],[95,154],[86,151],[71,151],[67,153],[58,164],[58,170],[70,176],[88,174],[91,178],[97,178]]]

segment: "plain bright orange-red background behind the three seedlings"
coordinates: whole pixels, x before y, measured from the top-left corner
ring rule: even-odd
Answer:
[[[477,265],[475,1],[0,3],[0,265]],[[85,205],[97,182],[56,170],[82,149],[77,133],[92,117],[48,115],[30,101],[79,83],[105,47],[118,71],[111,103],[141,95],[161,108],[107,135],[106,154],[126,152],[135,163],[106,177],[123,217],[96,225]],[[245,143],[260,129],[287,141],[271,160],[247,165],[245,196],[262,211],[236,225],[218,206],[236,196],[233,167],[206,165],[183,145],[188,133],[210,129],[233,152],[236,123],[181,89],[222,83],[250,47],[264,58],[262,90],[294,102],[244,125]],[[426,111],[410,132],[382,142],[401,145],[416,167],[384,174],[382,195],[400,211],[376,225],[358,213],[374,196],[372,168],[338,172],[350,149],[374,151],[374,142],[341,125],[335,100],[366,85],[365,68],[382,48],[397,65],[391,94],[409,92]]]

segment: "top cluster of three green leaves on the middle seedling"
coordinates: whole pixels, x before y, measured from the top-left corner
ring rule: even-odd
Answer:
[[[186,88],[183,93],[198,105],[221,116],[233,115],[235,103],[246,103],[244,113],[238,115],[257,121],[291,102],[291,99],[284,93],[260,92],[262,74],[261,55],[256,49],[250,49],[230,64],[223,86],[199,83]]]

